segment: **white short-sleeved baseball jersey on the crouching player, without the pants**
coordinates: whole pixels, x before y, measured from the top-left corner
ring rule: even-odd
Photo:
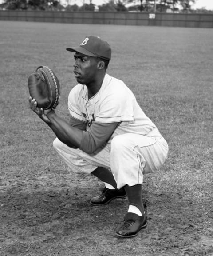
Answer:
[[[138,105],[134,94],[122,80],[106,74],[99,92],[89,100],[87,100],[87,94],[87,86],[78,84],[71,90],[68,97],[68,109],[71,116],[87,122],[87,130],[94,121],[121,122],[110,139],[124,133],[146,136],[151,131],[151,136],[161,136],[156,126]]]

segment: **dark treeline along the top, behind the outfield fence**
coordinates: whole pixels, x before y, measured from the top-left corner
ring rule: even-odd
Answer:
[[[95,6],[90,0],[89,4],[79,6],[70,4],[70,0],[4,0],[0,9],[6,10],[52,10],[52,11],[90,11],[90,12],[188,12],[213,13],[202,9],[193,10],[192,4],[197,0],[109,0]]]

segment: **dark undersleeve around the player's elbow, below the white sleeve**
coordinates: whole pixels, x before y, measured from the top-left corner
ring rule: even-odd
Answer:
[[[83,131],[80,149],[87,154],[95,152],[107,140],[110,139],[114,130],[120,123],[98,123],[94,122],[87,131]]]

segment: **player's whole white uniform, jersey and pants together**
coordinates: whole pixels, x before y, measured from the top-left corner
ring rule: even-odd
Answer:
[[[117,188],[142,184],[143,174],[155,172],[166,160],[166,140],[121,80],[106,74],[99,92],[89,100],[87,94],[87,87],[78,84],[68,97],[73,124],[78,120],[84,129],[87,123],[80,147],[71,148],[55,139],[54,148],[73,172],[91,173],[102,166],[111,170]],[[110,139],[103,144],[106,138]],[[88,153],[92,144],[95,151]]]

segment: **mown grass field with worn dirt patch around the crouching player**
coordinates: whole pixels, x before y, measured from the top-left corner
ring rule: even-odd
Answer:
[[[114,236],[127,200],[91,207],[101,183],[67,171],[53,132],[28,108],[28,76],[47,65],[68,120],[76,82],[65,48],[90,34],[111,44],[108,73],[170,147],[144,178],[149,222],[133,239]],[[213,255],[213,29],[0,21],[0,57],[0,256]]]

